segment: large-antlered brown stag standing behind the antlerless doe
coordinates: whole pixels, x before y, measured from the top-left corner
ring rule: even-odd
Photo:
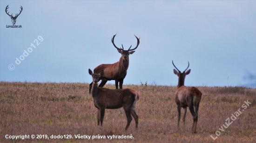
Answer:
[[[115,43],[114,43],[115,35],[112,37],[112,43],[114,46],[115,46]],[[100,73],[101,70],[104,70],[104,74],[101,75],[99,79],[99,81],[101,80],[101,84],[99,85],[99,87],[103,87],[107,83],[107,81],[115,80],[115,88],[118,89],[118,82],[119,82],[119,87],[120,89],[122,89],[123,79],[127,74],[127,69],[129,66],[129,55],[133,54],[135,51],[132,51],[132,50],[135,50],[140,44],[140,38],[138,37],[136,38],[137,38],[137,46],[134,49],[131,49],[132,45],[128,50],[123,50],[123,45],[122,45],[122,49],[115,46],[117,51],[122,55],[119,62],[115,62],[113,64],[101,64],[98,67],[94,68],[94,73]],[[90,84],[89,93],[91,93],[92,84],[93,82]]]

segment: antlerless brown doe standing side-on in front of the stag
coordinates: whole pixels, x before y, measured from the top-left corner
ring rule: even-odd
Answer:
[[[104,119],[105,109],[118,109],[123,107],[126,117],[128,129],[132,116],[135,119],[136,128],[138,128],[138,115],[135,112],[135,105],[139,99],[139,93],[133,89],[108,89],[98,87],[98,81],[103,75],[103,70],[99,74],[95,74],[89,69],[89,74],[93,77],[93,85],[91,95],[93,96],[94,106],[98,108],[98,125],[101,126]],[[131,116],[132,114],[132,116]]]

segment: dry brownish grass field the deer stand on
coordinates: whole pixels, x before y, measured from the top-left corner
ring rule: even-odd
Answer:
[[[124,131],[127,118],[122,108],[107,109],[103,126],[96,125],[97,109],[88,93],[88,87],[88,83],[0,82],[0,142],[256,143],[256,89],[198,87],[202,91],[202,99],[197,133],[192,134],[193,118],[189,109],[185,122],[186,131],[177,130],[177,109],[174,102],[176,87],[124,85],[124,88],[135,89],[140,94],[136,105],[139,127],[135,129],[133,119],[128,131]],[[111,84],[105,87],[115,88]],[[251,103],[249,106],[244,103],[247,100]],[[243,105],[247,108],[242,107]],[[225,120],[229,118],[231,122],[232,114],[236,114],[239,108],[242,113],[224,128],[223,124],[227,126]],[[220,135],[213,140],[216,131]],[[78,134],[89,135],[91,138],[76,139],[74,135]],[[6,139],[6,135],[30,135],[30,138]],[[47,135],[49,139],[32,139],[31,135]],[[51,135],[72,135],[73,139],[51,139]],[[92,139],[92,136],[98,135],[106,139]],[[113,135],[132,135],[133,138],[108,139],[108,136]]]

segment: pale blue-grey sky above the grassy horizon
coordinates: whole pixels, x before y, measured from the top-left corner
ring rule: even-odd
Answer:
[[[13,16],[23,7],[22,28],[7,28],[7,5]],[[90,83],[88,68],[119,61],[116,33],[126,50],[141,37],[124,84],[177,85],[172,60],[181,71],[189,61],[188,86],[244,86],[256,74],[256,0],[1,0],[0,81]]]

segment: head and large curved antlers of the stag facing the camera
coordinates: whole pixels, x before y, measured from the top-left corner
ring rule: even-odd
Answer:
[[[115,35],[116,35],[116,34],[115,34]],[[113,45],[115,46],[115,48],[117,49],[117,51],[122,54],[121,59],[122,59],[123,61],[129,61],[129,55],[130,55],[130,54],[133,54],[133,53],[135,52],[135,51],[133,51],[133,50],[137,49],[137,47],[139,46],[139,44],[140,44],[140,38],[138,38],[138,37],[136,37],[136,36],[134,35],[134,36],[137,38],[137,46],[136,46],[134,49],[131,49],[131,47],[132,47],[132,45],[131,45],[128,50],[124,50],[124,49],[123,49],[123,45],[122,45],[122,49],[121,49],[121,48],[118,48],[118,47],[115,45],[115,43],[114,43],[115,35],[112,37],[112,40],[111,40],[112,43],[113,43]]]

